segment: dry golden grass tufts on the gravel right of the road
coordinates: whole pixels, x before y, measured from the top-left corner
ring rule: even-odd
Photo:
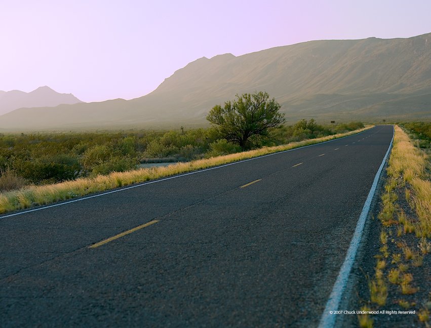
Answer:
[[[412,295],[419,290],[413,285],[413,275],[408,273],[407,270],[409,265],[414,267],[422,266],[423,255],[431,252],[431,244],[426,238],[431,234],[431,181],[429,175],[426,176],[425,170],[428,164],[427,154],[416,148],[409,137],[399,127],[396,127],[394,145],[387,167],[388,178],[381,196],[382,209],[378,215],[383,225],[380,232],[382,247],[380,248],[380,253],[375,256],[378,259],[375,267],[375,277],[368,283],[371,302],[379,306],[386,303],[388,293],[385,278],[383,277],[386,263],[382,260],[386,257],[385,252],[388,252],[388,235],[391,235],[387,233],[388,228],[385,228],[387,226],[398,225],[398,227],[393,228],[396,236],[391,239],[391,242],[396,242],[402,254],[391,254],[390,264],[395,264],[397,267],[391,268],[386,273],[386,279],[391,284],[398,285],[403,295]],[[416,212],[419,220],[409,218],[400,207],[397,202],[399,200],[397,194],[399,194],[400,190],[405,191],[405,199],[411,209]],[[395,219],[397,217],[398,220]],[[418,251],[415,251],[415,247],[409,247],[406,241],[401,241],[398,238],[405,233],[412,232],[415,232],[416,236],[422,237],[417,243]],[[399,241],[396,241],[397,238]],[[408,264],[402,263],[403,260]],[[404,308],[416,305],[415,302],[410,303],[405,300],[399,300],[398,304]],[[420,321],[426,322],[429,319],[429,312],[427,309],[422,309],[418,316]],[[364,326],[366,326],[367,318],[359,317],[359,319],[360,325],[362,319]]]

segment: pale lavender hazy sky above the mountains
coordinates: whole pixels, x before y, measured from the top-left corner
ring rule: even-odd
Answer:
[[[0,90],[131,99],[203,56],[431,32],[430,0],[0,0]]]

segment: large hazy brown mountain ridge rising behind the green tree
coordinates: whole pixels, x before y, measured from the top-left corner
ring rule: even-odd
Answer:
[[[200,58],[152,93],[126,100],[18,109],[0,128],[158,128],[205,124],[215,104],[266,91],[288,122],[431,120],[431,33],[410,38],[320,40],[243,56]],[[59,115],[58,113],[61,113]]]

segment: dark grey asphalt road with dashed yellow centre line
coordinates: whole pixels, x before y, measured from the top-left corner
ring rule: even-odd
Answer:
[[[0,326],[317,326],[392,135],[0,218]]]

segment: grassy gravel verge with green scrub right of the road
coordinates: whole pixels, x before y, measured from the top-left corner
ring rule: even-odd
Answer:
[[[363,309],[414,310],[414,316],[391,316],[398,321],[387,321],[383,326],[394,326],[394,322],[410,326],[413,321],[430,326],[431,124],[402,127],[404,130],[395,127],[378,214],[380,248],[368,282],[370,299]],[[359,324],[371,327],[379,319],[361,315]]]

